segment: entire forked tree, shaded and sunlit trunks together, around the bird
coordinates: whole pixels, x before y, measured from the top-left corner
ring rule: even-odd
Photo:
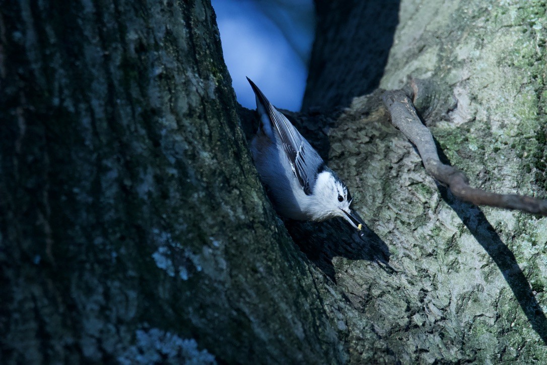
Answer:
[[[298,246],[207,1],[0,3],[3,362],[547,362],[547,219],[456,201],[381,90],[333,112],[376,87],[387,48],[359,44],[391,19],[380,86],[437,83],[421,112],[452,164],[545,196],[543,2],[402,0],[394,33],[396,2],[360,3],[318,2],[325,112],[294,117],[369,230],[286,222]]]

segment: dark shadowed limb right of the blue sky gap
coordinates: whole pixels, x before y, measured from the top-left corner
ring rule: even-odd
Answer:
[[[379,86],[399,2],[315,1],[317,30],[302,111],[346,107]]]

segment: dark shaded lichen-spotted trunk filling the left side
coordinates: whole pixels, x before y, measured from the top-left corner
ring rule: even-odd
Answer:
[[[210,3],[60,5],[0,4],[2,363],[343,362]]]

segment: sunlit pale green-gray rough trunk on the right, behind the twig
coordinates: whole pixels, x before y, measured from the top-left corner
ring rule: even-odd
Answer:
[[[545,11],[543,1],[400,2],[380,86],[398,89],[411,76],[438,84],[419,111],[441,157],[476,187],[547,196]],[[327,60],[323,77],[359,61]],[[358,96],[344,83],[314,87],[323,85],[328,90],[307,89],[305,105],[321,105],[327,94]],[[354,99],[317,141],[330,167],[357,187],[356,208],[397,272],[371,265],[351,245],[329,244],[310,259],[404,363],[547,361],[547,219],[473,206],[437,186],[388,125],[380,94]]]

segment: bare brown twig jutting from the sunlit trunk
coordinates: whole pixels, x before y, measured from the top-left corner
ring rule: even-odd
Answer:
[[[494,194],[472,188],[462,171],[441,163],[431,132],[422,124],[412,101],[404,91],[386,91],[383,103],[391,115],[391,123],[418,149],[429,175],[449,187],[452,194],[476,205],[517,209],[547,216],[547,200],[515,194]]]

